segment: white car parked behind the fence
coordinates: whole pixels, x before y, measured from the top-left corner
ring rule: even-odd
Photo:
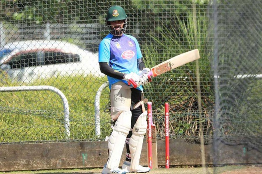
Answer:
[[[1,70],[17,81],[30,82],[58,75],[104,76],[99,69],[98,53],[65,41],[16,41],[6,44],[0,52]]]

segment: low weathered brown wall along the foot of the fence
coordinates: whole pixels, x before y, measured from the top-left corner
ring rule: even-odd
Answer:
[[[157,141],[157,151],[158,166],[164,166],[164,140]],[[206,164],[213,164],[212,144],[206,145],[205,151]],[[125,153],[122,161],[124,158]],[[216,159],[219,164],[257,164],[262,163],[262,154],[254,149],[247,150],[243,145],[229,146],[220,143]],[[104,141],[0,145],[0,171],[102,167],[106,161],[107,143]],[[146,141],[140,164],[147,166]],[[199,144],[185,139],[170,139],[170,165],[200,164]]]

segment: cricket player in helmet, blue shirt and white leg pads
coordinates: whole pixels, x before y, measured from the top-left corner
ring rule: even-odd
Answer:
[[[150,69],[145,68],[137,39],[125,34],[127,15],[120,6],[107,11],[109,34],[99,45],[99,65],[107,75],[110,89],[111,120],[113,129],[108,142],[108,160],[102,174],[150,171],[139,165],[146,133],[147,112],[144,108],[142,85],[151,81]],[[130,85],[135,83],[135,85]],[[134,88],[135,86],[136,88]],[[119,168],[123,148],[126,158]]]

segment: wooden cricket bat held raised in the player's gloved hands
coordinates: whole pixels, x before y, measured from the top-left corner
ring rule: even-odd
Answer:
[[[149,72],[149,76],[156,77],[160,74],[166,73],[167,71],[170,71],[172,69],[175,69],[179,66],[185,65],[189,62],[192,62],[194,60],[199,59],[199,50],[191,50],[185,53],[182,53],[180,55],[177,55],[175,57],[172,57],[156,66],[151,68],[151,71]],[[137,88],[137,85],[134,81],[130,81],[130,83],[134,86],[134,88]]]

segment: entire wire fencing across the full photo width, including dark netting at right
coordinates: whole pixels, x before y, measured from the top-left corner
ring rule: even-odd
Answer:
[[[126,33],[139,41],[147,67],[200,51],[199,61],[144,86],[158,138],[164,138],[168,102],[172,138],[199,142],[203,133],[205,140],[215,135],[237,143],[245,137],[242,142],[261,148],[262,3],[252,0],[1,1],[0,86],[61,90],[69,104],[70,137],[59,95],[2,88],[0,143],[110,134],[109,89],[97,51],[108,34],[105,14],[111,5],[126,10]]]

